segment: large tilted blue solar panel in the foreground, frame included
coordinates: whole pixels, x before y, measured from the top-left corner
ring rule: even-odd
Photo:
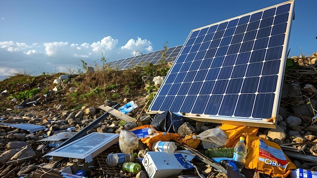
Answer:
[[[147,113],[275,128],[293,1],[192,30]]]

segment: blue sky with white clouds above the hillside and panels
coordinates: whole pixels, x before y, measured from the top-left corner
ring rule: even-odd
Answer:
[[[0,76],[77,71],[184,44],[192,29],[286,1],[0,1]],[[317,52],[316,0],[295,1],[289,56]]]

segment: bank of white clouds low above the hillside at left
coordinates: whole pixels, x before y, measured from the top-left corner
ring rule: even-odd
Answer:
[[[139,50],[143,54],[153,50],[151,42],[138,37],[130,39],[124,46],[118,46],[118,39],[111,36],[100,41],[84,42],[82,44],[68,41],[37,42],[31,45],[25,42],[0,41],[0,76],[23,71],[32,72],[32,75],[56,72],[68,72],[78,67],[80,59],[93,65],[101,59],[101,53],[107,61],[114,61],[134,56]]]

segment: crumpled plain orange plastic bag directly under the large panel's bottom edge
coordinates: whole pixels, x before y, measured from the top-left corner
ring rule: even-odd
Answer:
[[[254,135],[258,133],[258,127],[251,127],[245,125],[230,125],[230,124],[222,124],[220,127],[227,137],[228,142],[225,145],[226,148],[233,148],[234,145],[240,140],[241,136],[247,137],[247,135]]]

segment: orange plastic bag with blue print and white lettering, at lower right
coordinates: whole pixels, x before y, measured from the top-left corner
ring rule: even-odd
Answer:
[[[296,166],[283,153],[281,147],[257,136],[247,136],[248,155],[245,167],[255,169],[271,177],[287,177]]]

